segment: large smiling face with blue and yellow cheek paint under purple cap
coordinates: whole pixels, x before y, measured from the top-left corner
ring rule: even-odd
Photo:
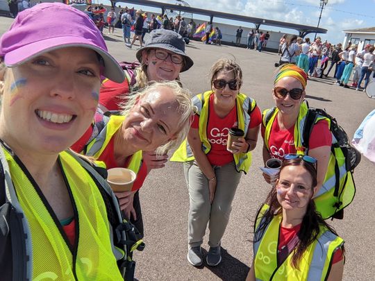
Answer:
[[[6,69],[0,137],[13,149],[64,151],[90,126],[100,82],[97,53],[79,47]]]

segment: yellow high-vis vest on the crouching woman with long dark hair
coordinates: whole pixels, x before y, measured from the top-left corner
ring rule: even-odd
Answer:
[[[263,206],[257,216],[257,229],[259,221],[267,210]],[[276,215],[267,225],[260,241],[254,247],[254,271],[256,280],[326,280],[331,267],[331,259],[335,250],[340,248],[344,241],[332,232],[322,227],[319,238],[310,244],[299,260],[299,269],[292,266],[293,251],[281,266],[277,267],[278,234],[282,216]]]

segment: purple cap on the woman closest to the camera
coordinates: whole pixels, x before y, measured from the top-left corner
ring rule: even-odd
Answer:
[[[124,71],[110,56],[103,36],[84,12],[63,3],[40,3],[19,12],[10,30],[0,39],[0,57],[6,66],[20,65],[41,53],[80,46],[99,53],[104,76],[117,83]]]

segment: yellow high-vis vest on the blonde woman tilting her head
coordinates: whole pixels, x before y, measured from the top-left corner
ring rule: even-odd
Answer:
[[[99,159],[101,153],[106,149],[110,139],[113,138],[117,130],[121,128],[125,121],[124,116],[111,115],[106,126],[101,130],[99,135],[95,137],[90,144],[88,144],[85,155],[92,156]],[[142,151],[137,151],[131,155],[131,160],[128,162],[128,169],[138,174],[142,166]]]

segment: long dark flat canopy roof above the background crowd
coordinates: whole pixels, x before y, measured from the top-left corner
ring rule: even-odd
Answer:
[[[113,3],[121,2],[118,0],[111,0]],[[271,19],[263,19],[259,17],[247,17],[243,15],[235,15],[226,12],[217,12],[214,10],[203,10],[200,8],[193,8],[181,5],[174,5],[169,3],[157,2],[157,1],[149,1],[149,0],[126,0],[126,3],[136,3],[138,5],[143,6],[150,6],[156,8],[163,8],[163,9],[171,9],[171,10],[181,10],[182,12],[191,12],[193,14],[198,15],[206,15],[209,17],[220,17],[222,19],[233,19],[240,22],[251,22],[256,24],[256,26],[266,25],[266,26],[278,26],[281,28],[290,28],[299,31],[299,33],[303,33],[303,36],[308,33],[327,33],[327,30],[324,28],[317,28],[315,26],[305,26],[301,24],[292,24],[290,22],[278,22]]]

